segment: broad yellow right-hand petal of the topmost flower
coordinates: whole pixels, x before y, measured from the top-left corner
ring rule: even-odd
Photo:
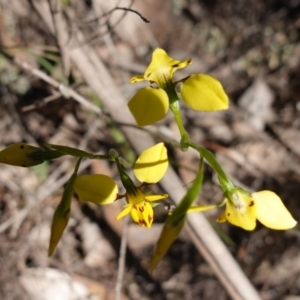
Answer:
[[[216,111],[227,109],[228,96],[221,83],[205,74],[194,74],[184,80],[180,86],[182,100],[192,109]]]

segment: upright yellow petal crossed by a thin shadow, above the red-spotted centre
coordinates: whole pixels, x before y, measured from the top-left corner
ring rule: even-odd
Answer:
[[[164,143],[144,150],[134,165],[134,174],[140,182],[156,183],[168,168],[168,154]]]

